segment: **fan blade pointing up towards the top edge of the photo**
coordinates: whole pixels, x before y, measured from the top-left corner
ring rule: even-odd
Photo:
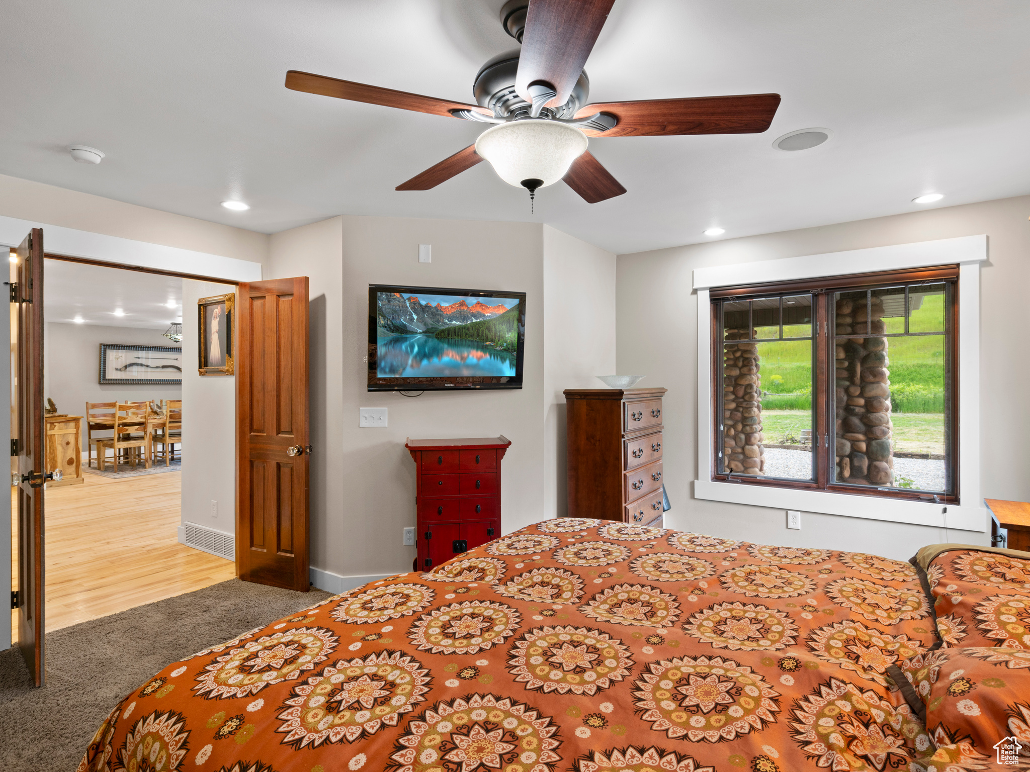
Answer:
[[[563,105],[615,0],[529,0],[518,58],[515,91],[529,97],[529,84],[550,83],[557,92],[545,106]]]

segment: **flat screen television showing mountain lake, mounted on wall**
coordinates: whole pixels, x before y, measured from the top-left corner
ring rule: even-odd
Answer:
[[[525,292],[369,285],[369,391],[520,389]]]

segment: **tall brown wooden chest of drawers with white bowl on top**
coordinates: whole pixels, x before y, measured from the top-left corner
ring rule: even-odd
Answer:
[[[569,516],[660,526],[665,389],[566,389]]]

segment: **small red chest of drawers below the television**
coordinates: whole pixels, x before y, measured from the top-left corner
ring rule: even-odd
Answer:
[[[501,536],[505,436],[408,440],[415,460],[416,543],[421,571]]]

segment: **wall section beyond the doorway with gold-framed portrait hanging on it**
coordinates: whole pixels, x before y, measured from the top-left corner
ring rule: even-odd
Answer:
[[[229,534],[236,533],[236,376],[197,372],[197,301],[235,291],[231,284],[182,280],[181,522]],[[211,501],[217,502],[216,517]],[[179,540],[185,540],[182,527]]]

